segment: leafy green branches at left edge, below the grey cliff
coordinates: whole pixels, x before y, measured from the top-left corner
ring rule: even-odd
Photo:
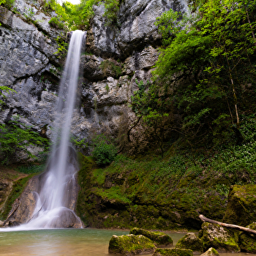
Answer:
[[[31,127],[20,124],[18,118],[8,124],[0,124],[0,130],[1,164],[8,164],[16,151],[25,151],[29,157],[34,157],[28,149],[29,146],[48,149],[48,140],[31,130]]]

